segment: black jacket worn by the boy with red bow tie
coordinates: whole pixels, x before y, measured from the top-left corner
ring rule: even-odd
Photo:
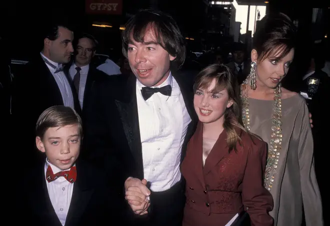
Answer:
[[[118,194],[108,184],[104,173],[83,161],[76,162],[77,179],[65,226],[124,225],[125,210],[119,206]],[[44,174],[44,161],[24,175],[16,186],[16,212],[19,217],[13,225],[61,226],[52,207]],[[118,224],[116,223],[118,222]]]

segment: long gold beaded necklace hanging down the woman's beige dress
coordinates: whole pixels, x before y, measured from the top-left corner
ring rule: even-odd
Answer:
[[[242,120],[244,127],[247,131],[250,131],[250,118],[249,118],[249,105],[248,105],[248,95],[247,95],[247,85],[250,76],[248,76],[241,85],[240,98],[242,100]],[[251,82],[250,82],[251,84]],[[279,153],[281,151],[282,144],[282,111],[281,111],[281,88],[280,84],[274,90],[274,109],[272,115],[271,126],[271,137],[270,143],[268,144],[268,156],[267,164],[264,172],[264,182],[263,185],[268,189],[272,188],[272,183],[274,182],[275,174],[277,173],[277,164],[279,159]]]

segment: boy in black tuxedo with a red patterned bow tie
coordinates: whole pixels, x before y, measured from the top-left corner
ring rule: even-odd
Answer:
[[[38,118],[35,143],[45,153],[41,164],[24,170],[17,192],[24,224],[48,226],[111,225],[123,209],[118,193],[102,172],[77,160],[82,139],[79,115],[70,107],[52,106]],[[113,187],[113,186],[112,186]],[[21,196],[20,196],[21,195]],[[111,204],[115,206],[111,208]],[[111,215],[113,214],[113,217]],[[18,224],[17,224],[18,225]]]

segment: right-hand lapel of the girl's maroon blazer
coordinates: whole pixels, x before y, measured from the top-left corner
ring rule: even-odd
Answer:
[[[227,134],[223,129],[205,160],[203,168],[204,175],[206,175],[225,155],[228,154],[226,138]]]

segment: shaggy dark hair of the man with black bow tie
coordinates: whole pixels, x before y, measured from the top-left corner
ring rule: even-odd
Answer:
[[[171,64],[179,68],[185,60],[185,41],[176,22],[168,15],[154,10],[142,10],[133,16],[125,25],[122,33],[122,54],[127,57],[128,44],[143,43],[147,29],[151,28],[156,42],[171,56],[176,57]],[[175,69],[175,68],[173,68]]]

